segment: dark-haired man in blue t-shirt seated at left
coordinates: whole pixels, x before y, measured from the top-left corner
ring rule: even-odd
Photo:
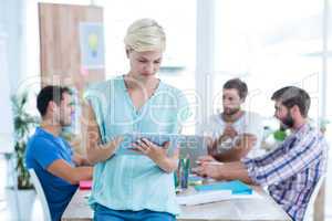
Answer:
[[[37,98],[41,126],[29,139],[25,162],[33,168],[43,187],[53,221],[61,215],[77,189],[80,180],[92,179],[89,161],[74,154],[59,135],[71,125],[73,104],[68,87],[46,86]]]

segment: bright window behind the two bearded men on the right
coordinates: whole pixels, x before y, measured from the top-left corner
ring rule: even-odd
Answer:
[[[286,85],[304,87],[318,117],[323,1],[216,1],[216,107],[225,81],[240,77],[250,91],[246,107],[271,116],[271,94]]]

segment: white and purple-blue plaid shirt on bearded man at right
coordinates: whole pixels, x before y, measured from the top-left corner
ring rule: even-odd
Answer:
[[[270,196],[294,220],[303,220],[309,199],[326,170],[328,145],[308,124],[278,148],[258,158],[243,158],[249,177],[268,186]]]

